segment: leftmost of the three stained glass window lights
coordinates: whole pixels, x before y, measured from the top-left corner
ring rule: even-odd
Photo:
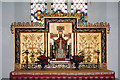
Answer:
[[[47,12],[47,3],[45,0],[31,0],[31,22],[43,23],[41,14]]]

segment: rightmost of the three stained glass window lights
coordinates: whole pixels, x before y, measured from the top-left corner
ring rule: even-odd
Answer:
[[[71,2],[71,13],[82,13],[81,21],[87,22],[87,0],[73,0]]]

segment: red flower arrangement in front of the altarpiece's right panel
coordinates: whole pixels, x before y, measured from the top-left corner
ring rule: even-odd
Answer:
[[[71,64],[75,63],[75,67],[76,67],[75,69],[79,70],[78,69],[79,63],[84,61],[84,56],[83,55],[80,55],[80,56],[75,55],[75,56],[71,57],[70,61],[71,61]]]

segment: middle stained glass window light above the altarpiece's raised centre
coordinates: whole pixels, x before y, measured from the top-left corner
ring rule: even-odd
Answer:
[[[52,0],[51,13],[62,11],[67,13],[67,1],[66,0]]]

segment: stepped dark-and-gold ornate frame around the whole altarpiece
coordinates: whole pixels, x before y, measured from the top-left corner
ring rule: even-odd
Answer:
[[[42,32],[45,33],[45,36],[48,36],[49,32],[49,22],[71,22],[73,23],[73,33],[83,33],[83,32],[100,32],[102,33],[102,63],[101,63],[101,68],[107,68],[107,33],[110,31],[110,25],[109,23],[77,23],[78,18],[77,17],[45,17],[44,18],[44,23],[45,26],[39,23],[21,23],[21,22],[14,22],[11,24],[11,33],[14,34],[14,50],[15,50],[15,70],[21,69],[20,68],[20,57],[19,57],[19,33],[20,32]],[[105,43],[104,43],[105,42]],[[47,42],[46,42],[47,43]],[[46,43],[44,45],[46,45]],[[75,52],[75,51],[74,51]],[[58,64],[57,64],[58,65]],[[91,64],[80,64],[79,67],[83,68],[92,66],[95,67],[97,64],[91,65]],[[48,67],[48,66],[47,66]]]

